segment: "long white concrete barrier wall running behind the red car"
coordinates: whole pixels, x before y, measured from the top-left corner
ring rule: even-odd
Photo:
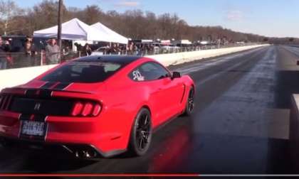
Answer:
[[[180,63],[187,63],[192,60],[200,60],[204,58],[212,58],[219,55],[225,55],[229,53],[236,53],[251,48],[258,48],[263,45],[252,45],[236,48],[220,48],[212,50],[200,50],[187,53],[169,53],[163,55],[150,55],[149,58],[158,60],[163,65],[177,65]],[[10,70],[0,70],[0,90],[5,87],[14,87],[16,85],[22,85],[34,77],[41,75],[41,73],[55,67],[56,65],[46,65],[39,67],[24,67]]]

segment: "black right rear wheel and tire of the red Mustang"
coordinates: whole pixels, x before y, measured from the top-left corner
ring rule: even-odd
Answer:
[[[132,156],[143,156],[152,141],[152,120],[150,111],[142,108],[137,114],[130,135],[129,152]]]

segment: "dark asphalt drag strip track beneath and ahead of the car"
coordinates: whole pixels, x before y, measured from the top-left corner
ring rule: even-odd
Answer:
[[[172,66],[196,82],[196,109],[159,129],[146,156],[79,161],[0,146],[0,173],[299,173],[288,141],[297,60],[299,48],[271,45]]]

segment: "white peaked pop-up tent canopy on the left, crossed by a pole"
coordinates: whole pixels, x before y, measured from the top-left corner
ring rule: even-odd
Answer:
[[[33,36],[43,38],[57,38],[58,26],[34,31]],[[61,38],[63,40],[88,40],[111,42],[111,37],[105,31],[88,26],[78,18],[73,18],[62,24]]]

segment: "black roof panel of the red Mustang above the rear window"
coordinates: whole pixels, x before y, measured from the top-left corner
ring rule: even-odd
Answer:
[[[132,62],[140,60],[140,56],[131,55],[93,55],[83,58],[78,58],[76,62],[106,62],[106,63],[118,63],[121,65],[128,65]]]

